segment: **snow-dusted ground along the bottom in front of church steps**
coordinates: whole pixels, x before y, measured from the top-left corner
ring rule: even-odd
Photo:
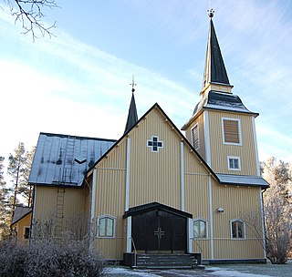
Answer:
[[[291,277],[292,261],[283,265],[267,264],[230,264],[206,266],[205,270],[179,271],[179,270],[130,270],[124,267],[110,267],[105,277]]]

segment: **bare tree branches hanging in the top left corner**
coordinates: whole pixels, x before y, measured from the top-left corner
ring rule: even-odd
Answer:
[[[42,23],[45,16],[44,9],[57,7],[55,0],[3,0],[10,9],[11,15],[15,16],[16,22],[20,22],[24,33],[30,33],[35,40],[36,30],[42,36],[54,36],[51,29],[56,26],[56,22],[51,26]]]

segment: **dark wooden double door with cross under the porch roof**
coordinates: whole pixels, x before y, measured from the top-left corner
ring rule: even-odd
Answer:
[[[132,238],[138,251],[186,252],[186,219],[164,210],[135,215]]]

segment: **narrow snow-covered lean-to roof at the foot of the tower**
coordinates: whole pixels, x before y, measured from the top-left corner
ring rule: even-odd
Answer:
[[[266,189],[269,187],[268,182],[260,176],[245,176],[245,175],[229,175],[216,173],[220,183],[225,185],[238,185],[250,187],[262,187]]]

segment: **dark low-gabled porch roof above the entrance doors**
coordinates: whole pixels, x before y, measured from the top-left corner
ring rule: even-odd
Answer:
[[[151,202],[151,203],[144,204],[141,206],[132,207],[125,212],[125,214],[123,215],[123,218],[125,219],[127,217],[138,215],[138,214],[148,212],[151,210],[164,210],[164,211],[170,212],[172,214],[175,214],[184,218],[193,219],[193,215],[191,213],[185,212],[183,210],[177,210],[170,206],[166,206],[158,202]]]

